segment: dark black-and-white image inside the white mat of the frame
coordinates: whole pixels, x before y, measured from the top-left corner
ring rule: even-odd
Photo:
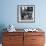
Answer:
[[[33,13],[33,7],[21,7],[21,19],[31,20]]]

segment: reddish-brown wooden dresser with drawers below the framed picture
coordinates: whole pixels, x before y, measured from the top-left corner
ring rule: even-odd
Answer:
[[[3,46],[44,46],[44,32],[3,32]]]

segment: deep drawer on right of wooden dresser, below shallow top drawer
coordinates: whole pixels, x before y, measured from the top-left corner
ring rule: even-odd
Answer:
[[[28,44],[43,44],[44,43],[44,36],[25,36],[24,42]]]

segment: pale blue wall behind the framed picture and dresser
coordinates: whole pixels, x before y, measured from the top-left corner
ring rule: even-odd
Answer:
[[[13,24],[16,28],[46,28],[46,1],[44,0],[0,0],[0,25]],[[35,5],[35,23],[17,22],[17,5]]]

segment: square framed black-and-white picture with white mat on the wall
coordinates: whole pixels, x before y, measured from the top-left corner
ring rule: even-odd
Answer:
[[[18,5],[17,6],[18,22],[35,22],[35,5]]]

